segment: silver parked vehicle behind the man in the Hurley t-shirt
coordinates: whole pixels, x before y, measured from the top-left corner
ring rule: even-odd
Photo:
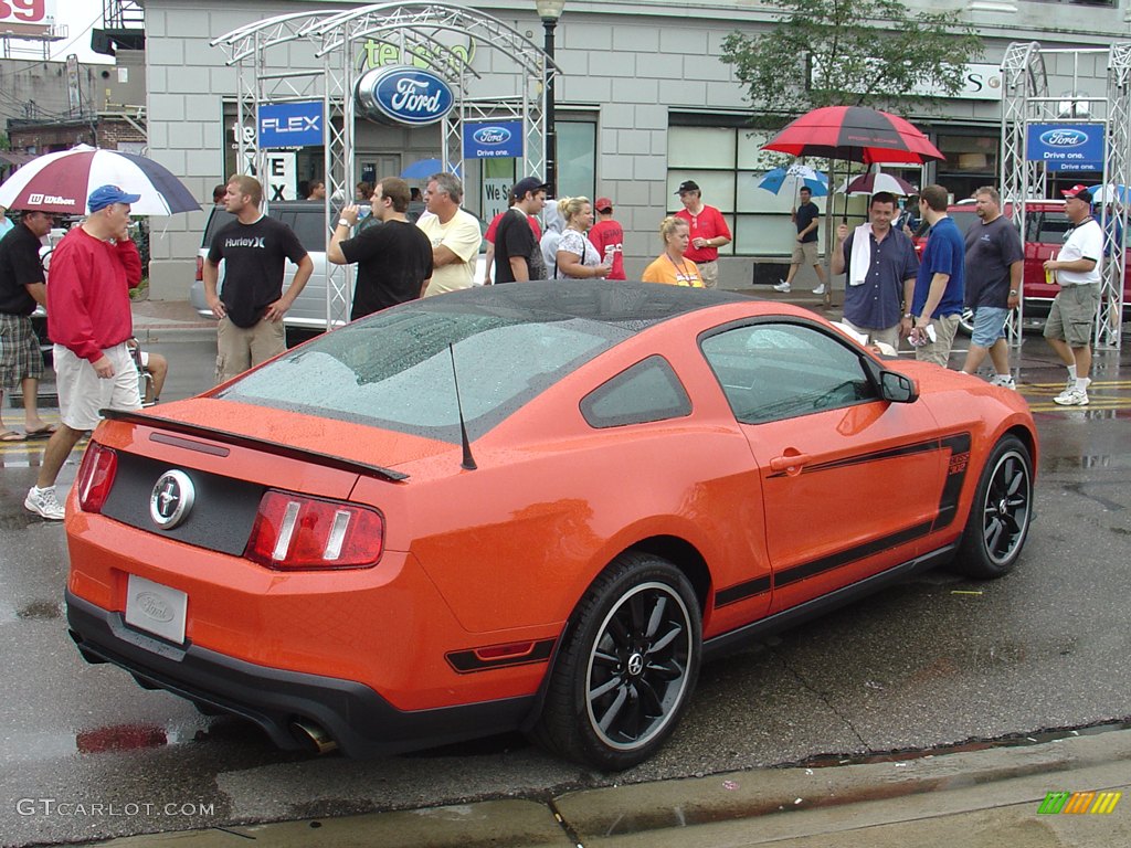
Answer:
[[[416,220],[424,211],[423,204],[412,204],[408,208],[409,220]],[[302,293],[295,300],[294,305],[287,311],[283,322],[287,328],[325,330],[326,329],[326,209],[320,202],[309,200],[284,200],[270,204],[267,214],[286,224],[299,241],[310,253],[314,262],[314,270],[310,279],[303,287]],[[211,244],[213,235],[224,224],[232,220],[234,216],[222,207],[214,207],[205,224],[204,237],[200,240],[200,250],[197,252],[197,276],[189,289],[189,302],[192,308],[202,317],[211,318],[213,312],[205,297],[204,263],[208,256],[208,248]],[[486,232],[486,224],[480,220],[480,232]],[[483,266],[486,253],[486,241],[480,244],[480,256],[476,259],[475,282],[481,283],[484,277]],[[284,271],[284,291],[294,277],[296,267],[291,262],[286,263]],[[224,287],[224,262],[221,261],[219,287]],[[351,293],[352,294],[352,293]]]

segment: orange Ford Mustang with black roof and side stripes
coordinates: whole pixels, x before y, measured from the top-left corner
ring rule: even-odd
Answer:
[[[111,413],[67,502],[83,656],[283,747],[519,728],[618,770],[702,660],[912,572],[1009,571],[1007,389],[803,309],[571,280],[389,309]]]

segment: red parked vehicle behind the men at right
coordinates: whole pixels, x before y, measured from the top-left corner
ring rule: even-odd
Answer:
[[[978,220],[973,201],[953,204],[947,207],[947,214],[953,218],[964,235]],[[1011,216],[1012,205],[1004,204],[1002,214]],[[1043,319],[1060,291],[1060,286],[1046,279],[1044,263],[1056,258],[1071,227],[1072,223],[1064,214],[1063,200],[1034,200],[1025,205],[1025,274],[1021,295],[1025,298],[1026,319]],[[915,234],[915,249],[920,253],[926,243],[926,231],[927,226],[924,224]],[[1125,306],[1131,308],[1131,249],[1128,250],[1123,302]],[[962,312],[960,327],[967,335],[974,331],[974,317],[970,310]]]

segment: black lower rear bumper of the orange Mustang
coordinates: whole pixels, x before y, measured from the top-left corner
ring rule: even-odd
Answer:
[[[127,626],[107,612],[66,594],[70,635],[88,663],[112,663],[146,689],[250,719],[284,750],[312,750],[295,728],[320,727],[347,756],[392,754],[523,726],[535,696],[405,711],[355,681],[247,663],[189,643],[182,648]]]

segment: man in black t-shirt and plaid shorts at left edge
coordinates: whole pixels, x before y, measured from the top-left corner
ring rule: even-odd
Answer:
[[[21,442],[51,435],[40,417],[36,393],[43,377],[43,354],[32,327],[35,304],[46,308],[46,275],[40,261],[43,236],[51,232],[51,214],[25,211],[0,240],[0,409],[3,391],[24,392],[24,432],[8,430],[0,417],[0,442]]]

